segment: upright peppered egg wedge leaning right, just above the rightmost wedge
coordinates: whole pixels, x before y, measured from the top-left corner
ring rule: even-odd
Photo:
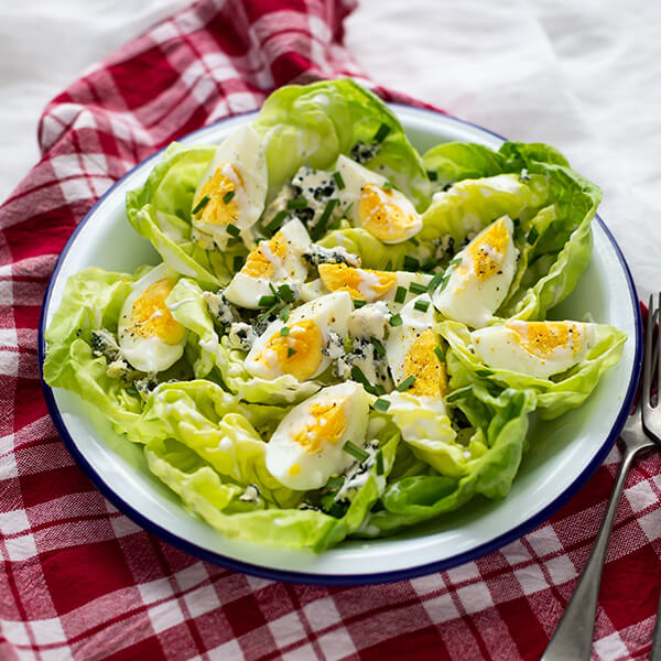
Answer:
[[[473,328],[491,319],[509,291],[519,251],[512,221],[507,216],[483,229],[455,258],[445,285],[434,294],[434,306],[444,316]]]

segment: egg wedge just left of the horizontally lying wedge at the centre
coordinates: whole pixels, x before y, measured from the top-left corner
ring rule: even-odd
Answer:
[[[269,285],[288,283],[300,289],[307,277],[302,254],[308,245],[310,235],[301,220],[290,220],[272,239],[252,248],[225,289],[225,297],[240,307],[257,310],[260,299],[272,294]]]

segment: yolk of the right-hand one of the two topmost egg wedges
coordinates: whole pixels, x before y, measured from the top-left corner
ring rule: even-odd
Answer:
[[[366,184],[358,201],[358,220],[369,234],[382,241],[403,241],[418,219],[398,204],[393,191]]]

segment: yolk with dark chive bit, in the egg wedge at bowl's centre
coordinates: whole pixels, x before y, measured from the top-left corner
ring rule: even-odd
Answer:
[[[289,333],[275,333],[269,338],[256,361],[272,366],[273,359],[280,369],[304,381],[322,361],[323,337],[312,319],[302,319],[289,326]]]

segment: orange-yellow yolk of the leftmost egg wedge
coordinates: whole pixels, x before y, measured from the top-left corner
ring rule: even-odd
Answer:
[[[184,339],[186,328],[174,319],[165,306],[165,299],[174,284],[174,280],[167,278],[159,280],[133,301],[127,328],[131,335],[158,337],[169,345],[180,344]]]

